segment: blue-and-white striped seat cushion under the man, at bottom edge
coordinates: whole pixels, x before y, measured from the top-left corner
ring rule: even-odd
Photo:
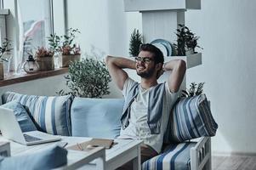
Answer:
[[[195,145],[195,142],[170,144],[162,154],[145,161],[142,170],[190,170],[191,148]]]

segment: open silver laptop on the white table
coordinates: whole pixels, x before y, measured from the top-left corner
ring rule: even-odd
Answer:
[[[43,144],[60,140],[60,136],[31,131],[22,133],[19,122],[14,116],[14,111],[0,106],[0,130],[6,139],[13,140],[20,144],[32,145]]]

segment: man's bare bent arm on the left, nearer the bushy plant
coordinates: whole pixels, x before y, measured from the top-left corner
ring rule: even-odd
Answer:
[[[128,78],[128,74],[123,71],[123,69],[135,69],[135,61],[107,55],[105,63],[108,66],[112,80],[117,84],[117,87],[122,90],[124,82]]]

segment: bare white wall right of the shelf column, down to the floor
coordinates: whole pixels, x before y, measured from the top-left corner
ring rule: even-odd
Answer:
[[[200,11],[185,15],[200,37],[202,66],[188,82],[206,82],[213,116],[219,123],[215,152],[256,153],[256,1],[202,0]]]

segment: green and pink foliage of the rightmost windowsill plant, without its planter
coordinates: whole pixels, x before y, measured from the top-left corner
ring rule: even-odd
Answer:
[[[56,33],[51,34],[48,37],[49,48],[54,51],[54,53],[60,53],[64,55],[69,54],[81,54],[80,47],[76,45],[74,39],[80,33],[78,29],[70,28],[67,30],[67,34],[64,36],[58,36]]]

